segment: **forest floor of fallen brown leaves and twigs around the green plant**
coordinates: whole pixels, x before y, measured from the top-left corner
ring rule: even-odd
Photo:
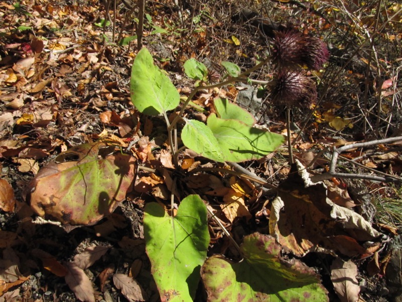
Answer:
[[[269,56],[272,30],[280,26],[328,45],[329,61],[321,70],[306,71],[318,84],[315,106],[292,108],[294,157],[311,175],[328,172],[334,147],[402,135],[402,6],[398,1],[190,0],[181,4],[146,2],[142,38],[181,97],[194,87],[183,69],[189,58],[203,62],[210,79],[218,81],[225,74],[222,61],[245,70]],[[164,120],[141,114],[130,98],[131,66],[138,52],[134,37],[138,8],[128,1],[117,2],[115,9],[113,5],[105,22],[105,5],[92,0],[0,3],[0,302],[77,301],[73,287],[79,286],[79,280],[69,280],[66,272],[71,271],[71,263],[85,261],[89,261],[82,265],[90,281],[81,285],[94,291],[96,301],[135,300],[128,293],[130,285],[119,285],[115,277],[121,275],[116,274],[135,279],[144,300],[161,300],[145,250],[142,221],[147,203],[170,205],[169,178],[161,171],[171,171],[174,165]],[[267,64],[254,71],[246,83],[200,91],[192,101],[203,111],[194,107],[185,114],[205,121],[214,113],[213,100],[225,97],[251,112],[258,125],[286,135],[284,111],[275,109],[265,87],[273,68]],[[118,145],[119,152],[148,168],[138,171],[134,190],[113,214],[94,225],[66,232],[38,220],[29,205],[31,179],[60,153],[106,138]],[[325,181],[330,200],[359,213],[381,236],[332,234],[331,244],[324,247],[318,240],[314,248],[303,251],[282,245],[287,257],[314,268],[331,301],[402,300],[401,144],[402,140],[394,140],[354,147],[338,159],[339,172],[385,177],[386,182],[357,177]],[[241,245],[246,235],[269,234],[276,196],[272,188],[288,179],[288,160],[284,144],[262,159],[241,163],[245,173],[228,174],[222,169],[236,167],[208,161],[186,149],[180,156],[185,177],[178,187],[182,196],[194,192],[202,196]],[[221,170],[214,171],[217,168]],[[193,169],[198,173],[191,174]],[[256,179],[263,185],[253,182]],[[271,190],[265,190],[266,183]],[[211,191],[220,193],[214,196]],[[233,196],[240,197],[241,205],[230,210]],[[297,210],[303,216],[305,209]],[[300,236],[314,242],[308,231],[312,225],[289,219],[293,219],[290,232],[300,229]],[[241,259],[211,217],[209,231],[209,256]],[[335,259],[353,266],[341,272],[352,281],[334,281]],[[195,300],[207,300],[202,282]]]

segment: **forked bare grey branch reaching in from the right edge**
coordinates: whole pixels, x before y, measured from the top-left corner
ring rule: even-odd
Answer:
[[[390,137],[390,138],[378,139],[378,140],[372,140],[372,141],[366,141],[366,142],[352,143],[349,145],[344,145],[339,148],[334,147],[333,152],[332,152],[331,165],[330,165],[329,172],[325,173],[325,174],[321,174],[321,175],[315,175],[315,176],[311,177],[311,180],[313,182],[318,182],[318,181],[330,179],[332,177],[338,177],[338,178],[366,179],[366,180],[379,181],[379,182],[400,181],[399,178],[393,177],[391,175],[381,177],[381,176],[366,175],[366,174],[338,173],[335,171],[339,155],[346,150],[353,149],[353,148],[363,148],[363,147],[380,144],[380,143],[390,143],[390,142],[394,142],[394,141],[398,141],[398,140],[402,140],[402,136]]]

